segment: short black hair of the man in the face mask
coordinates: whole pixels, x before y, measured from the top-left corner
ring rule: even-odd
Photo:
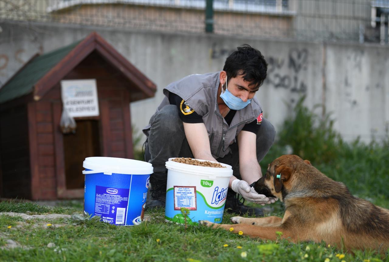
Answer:
[[[267,63],[261,52],[244,44],[228,56],[223,70],[227,72],[227,80],[243,75],[250,86],[260,87],[266,78]]]

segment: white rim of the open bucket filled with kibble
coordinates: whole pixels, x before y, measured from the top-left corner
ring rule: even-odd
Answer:
[[[214,162],[209,161],[212,163],[219,163],[222,166],[225,166],[226,168],[212,168],[209,166],[195,166],[195,165],[189,165],[184,163],[179,163],[172,161],[172,159],[175,159],[175,157],[169,158],[169,161],[166,162],[166,168],[175,170],[175,171],[182,171],[184,173],[196,173],[196,175],[211,175],[211,176],[221,176],[221,177],[230,177],[232,176],[232,166],[220,162]],[[202,159],[195,159],[198,161],[208,161],[208,160],[202,160]]]

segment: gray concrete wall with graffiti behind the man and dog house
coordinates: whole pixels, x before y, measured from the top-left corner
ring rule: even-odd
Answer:
[[[256,97],[276,129],[301,95],[307,96],[309,108],[324,104],[327,112],[333,112],[335,128],[346,140],[361,136],[370,141],[372,134],[382,138],[389,125],[388,47],[47,24],[2,23],[1,27],[2,84],[35,52],[51,51],[97,31],[157,84],[154,98],[130,105],[131,121],[139,133],[162,100],[163,87],[186,75],[222,70],[226,57],[241,44],[259,49],[269,63],[268,78]]]

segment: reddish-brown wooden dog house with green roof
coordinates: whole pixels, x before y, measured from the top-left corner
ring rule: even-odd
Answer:
[[[95,79],[100,114],[75,118],[63,134],[61,80]],[[132,158],[130,102],[154,96],[155,84],[97,33],[35,55],[0,89],[0,197],[84,195],[82,161]]]

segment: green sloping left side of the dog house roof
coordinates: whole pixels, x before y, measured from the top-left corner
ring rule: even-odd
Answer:
[[[33,86],[81,41],[56,49],[42,56],[37,56],[28,62],[20,72],[16,73],[0,89],[0,103],[31,93]]]

